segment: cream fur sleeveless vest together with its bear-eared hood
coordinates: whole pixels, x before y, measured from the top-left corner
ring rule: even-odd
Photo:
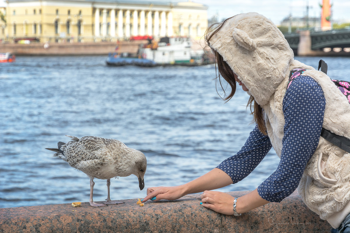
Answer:
[[[322,88],[326,106],[323,128],[350,138],[350,104],[330,78],[294,60],[293,51],[275,24],[258,13],[244,13],[214,28],[208,45],[217,51],[248,88],[266,114],[268,136],[281,156],[285,120],[282,101],[289,72],[309,71]],[[217,30],[215,30],[217,29]],[[350,154],[320,138],[298,191],[305,204],[337,228],[350,213]]]

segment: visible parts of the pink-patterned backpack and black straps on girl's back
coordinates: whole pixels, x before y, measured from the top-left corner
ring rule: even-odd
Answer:
[[[320,60],[318,62],[317,70],[320,70],[320,68],[323,73],[327,74],[328,65],[327,63],[324,62],[324,60]],[[300,69],[300,68],[296,68],[290,71],[287,89],[290,86],[290,83],[292,83],[296,77],[304,73],[304,71],[306,70]],[[346,97],[346,99],[348,99],[350,103],[350,82],[343,81],[343,80],[335,80],[335,79],[331,79],[331,80],[334,82],[337,88],[344,94],[344,96]],[[329,130],[326,130],[324,128],[322,128],[321,130],[321,137],[323,137],[330,143],[338,146],[342,150],[350,153],[350,139],[337,135],[335,133],[332,133]]]

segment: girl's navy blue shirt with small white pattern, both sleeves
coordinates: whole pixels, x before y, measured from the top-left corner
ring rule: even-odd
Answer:
[[[283,99],[285,126],[280,163],[258,186],[259,195],[266,201],[280,202],[299,185],[320,139],[324,109],[325,99],[318,83],[310,77],[295,78]],[[237,183],[258,166],[271,147],[269,137],[255,126],[241,150],[217,168]]]

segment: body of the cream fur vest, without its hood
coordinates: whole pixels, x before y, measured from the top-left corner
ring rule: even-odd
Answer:
[[[294,68],[310,67],[294,60],[290,70]],[[326,100],[323,128],[350,138],[348,100],[326,74],[308,70],[303,75],[313,78],[323,90]],[[288,78],[281,82],[269,102],[262,106],[266,114],[268,136],[279,157],[285,124],[282,102]],[[310,210],[327,220],[332,227],[339,227],[350,213],[350,154],[321,137],[315,153],[307,163],[298,192]]]

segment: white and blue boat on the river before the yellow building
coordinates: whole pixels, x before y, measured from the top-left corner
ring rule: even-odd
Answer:
[[[206,65],[204,51],[191,49],[191,39],[187,37],[163,37],[159,42],[151,42],[141,45],[138,57],[128,57],[127,54],[118,52],[109,53],[107,65],[137,65],[137,66],[166,66]]]

